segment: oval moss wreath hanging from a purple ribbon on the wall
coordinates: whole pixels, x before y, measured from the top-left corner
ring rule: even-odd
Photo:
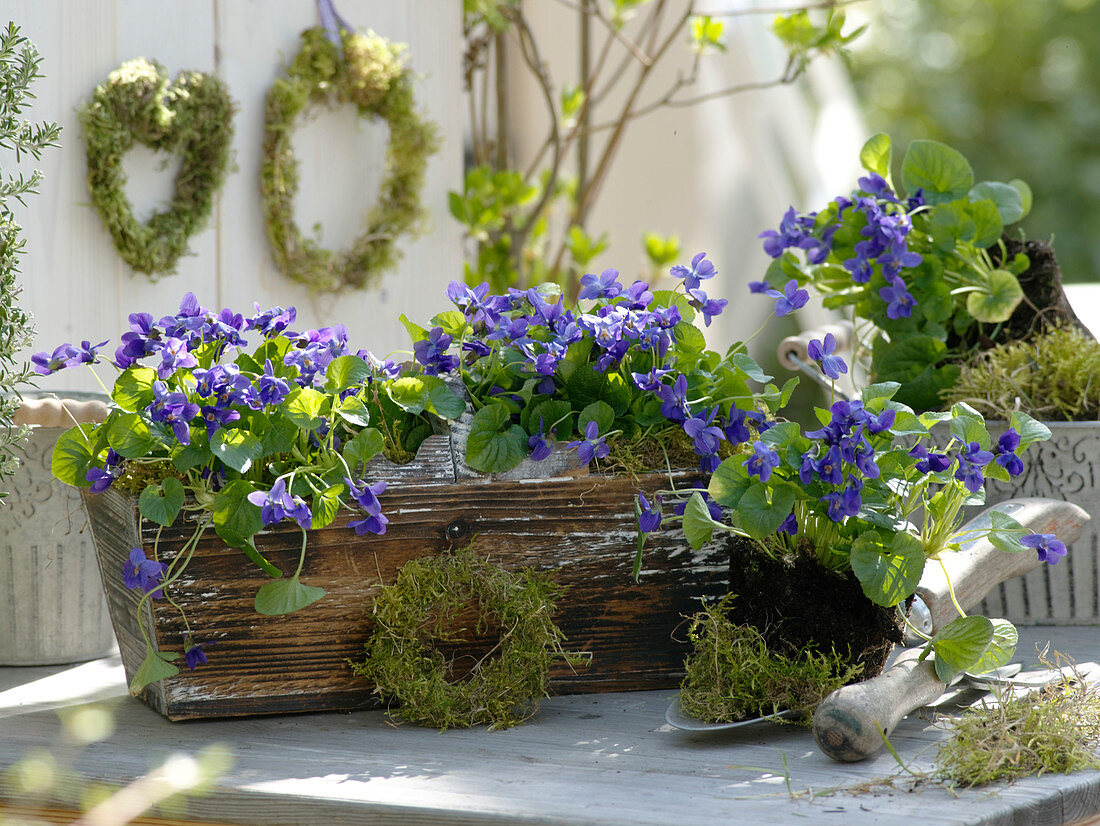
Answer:
[[[267,92],[260,189],[264,224],[278,268],[317,291],[364,289],[397,263],[402,233],[415,234],[428,156],[439,146],[435,124],[416,112],[413,78],[399,59],[404,46],[373,32],[343,33],[341,46],[324,30],[301,33],[301,51]],[[365,230],[339,253],[302,238],[294,220],[298,163],[292,139],[309,104],[353,103],[361,118],[389,125],[386,175]]]

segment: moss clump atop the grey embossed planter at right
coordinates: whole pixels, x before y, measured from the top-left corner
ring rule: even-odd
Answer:
[[[963,367],[946,401],[1005,419],[1018,409],[1053,421],[1100,419],[1100,342],[1056,327],[987,350]]]

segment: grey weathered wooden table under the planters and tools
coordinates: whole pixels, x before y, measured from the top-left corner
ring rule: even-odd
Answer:
[[[1100,628],[1022,628],[1018,659],[1049,640],[1100,659]],[[125,783],[175,751],[227,744],[235,764],[197,819],[239,824],[1062,824],[1100,813],[1100,772],[953,793],[883,751],[834,763],[810,733],[762,724],[689,734],[664,722],[674,692],[553,697],[506,731],[394,726],[382,712],[168,723],[124,696],[117,660],[0,669],[0,766],[54,742],[57,709],[114,704],[117,728],[76,762]],[[915,772],[946,735],[911,715],[892,744]]]

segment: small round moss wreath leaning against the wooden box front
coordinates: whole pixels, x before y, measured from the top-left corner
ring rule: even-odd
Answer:
[[[410,560],[374,601],[375,629],[366,660],[353,670],[400,703],[409,723],[440,729],[488,724],[507,728],[538,711],[550,662],[561,651],[551,621],[561,588],[544,574],[512,573],[471,549]],[[449,683],[447,661],[431,640],[466,605],[480,608],[476,631],[499,625],[499,643],[464,679]]]

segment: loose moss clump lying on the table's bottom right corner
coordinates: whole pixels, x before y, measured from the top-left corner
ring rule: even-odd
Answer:
[[[1100,769],[1100,687],[1062,682],[952,719],[936,772],[970,788],[1031,774]]]

